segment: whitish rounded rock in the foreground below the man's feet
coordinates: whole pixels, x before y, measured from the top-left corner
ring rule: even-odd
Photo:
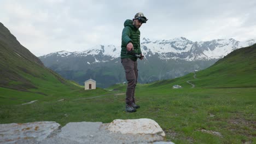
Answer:
[[[108,125],[108,130],[113,133],[120,132],[121,134],[151,134],[165,136],[165,132],[152,119],[115,119]]]

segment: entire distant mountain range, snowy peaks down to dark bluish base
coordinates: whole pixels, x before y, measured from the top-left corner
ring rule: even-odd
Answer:
[[[183,37],[171,40],[143,38],[141,49],[145,59],[138,62],[138,82],[172,79],[194,70],[205,69],[231,51],[253,43],[256,40],[240,42],[235,39],[217,39],[193,42]],[[98,45],[86,51],[60,51],[39,58],[46,67],[80,85],[92,78],[97,81],[98,87],[108,87],[125,81],[120,49],[120,46]]]

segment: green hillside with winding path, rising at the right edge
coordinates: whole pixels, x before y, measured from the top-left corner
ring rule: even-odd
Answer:
[[[211,67],[196,71],[195,74],[190,73],[177,79],[156,81],[150,87],[170,88],[173,85],[191,87],[186,81],[193,83],[195,88],[256,87],[256,44],[234,50]],[[241,94],[245,96],[244,93]]]

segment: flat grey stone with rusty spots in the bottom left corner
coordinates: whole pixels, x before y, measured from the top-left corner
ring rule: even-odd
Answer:
[[[0,124],[0,143],[15,143],[22,139],[42,141],[59,127],[56,122]]]

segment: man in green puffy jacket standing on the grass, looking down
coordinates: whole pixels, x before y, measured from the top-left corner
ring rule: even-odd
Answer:
[[[138,78],[137,58],[143,59],[141,53],[139,27],[142,23],[147,22],[147,18],[143,13],[137,13],[133,20],[126,20],[124,22],[124,29],[122,32],[121,44],[121,63],[125,69],[125,77],[127,80],[126,89],[126,112],[136,112],[139,105],[135,103],[135,87]]]

